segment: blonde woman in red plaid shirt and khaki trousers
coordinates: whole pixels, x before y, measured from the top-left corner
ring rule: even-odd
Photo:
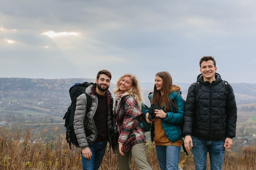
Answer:
[[[119,170],[130,170],[133,157],[139,170],[151,170],[146,157],[146,136],[139,119],[141,112],[141,89],[134,75],[124,74],[117,81],[114,117],[119,132],[113,152],[117,153]]]

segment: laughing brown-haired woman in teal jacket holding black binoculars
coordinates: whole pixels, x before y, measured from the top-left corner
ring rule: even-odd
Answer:
[[[166,71],[155,75],[154,92],[148,96],[154,108],[151,114],[145,114],[148,123],[152,123],[151,139],[155,141],[157,159],[161,170],[178,170],[180,147],[182,146],[182,132],[179,127],[183,123],[184,100],[180,87],[173,85],[170,73]],[[172,100],[175,100],[175,104]],[[173,113],[173,107],[177,110]],[[150,111],[151,113],[151,111]],[[149,119],[148,119],[149,118]]]

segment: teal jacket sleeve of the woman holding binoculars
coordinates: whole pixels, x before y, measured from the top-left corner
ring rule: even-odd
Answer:
[[[166,114],[168,116],[166,119],[164,119],[164,121],[167,121],[167,122],[170,122],[173,124],[181,124],[181,123],[183,123],[185,103],[180,94],[177,97],[175,97],[174,99],[175,99],[175,103],[177,106],[177,113],[166,112]]]

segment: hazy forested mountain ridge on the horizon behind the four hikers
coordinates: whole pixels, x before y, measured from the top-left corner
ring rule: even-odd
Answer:
[[[95,79],[86,78],[68,78],[68,79],[31,79],[31,78],[0,78],[0,97],[4,92],[17,91],[45,91],[45,92],[61,92],[69,97],[69,88],[77,82],[95,82]],[[186,98],[190,84],[175,83],[181,87],[182,96]],[[256,103],[256,84],[249,83],[232,83],[237,104]],[[149,92],[153,91],[154,83],[141,83],[141,89],[144,92],[144,98],[147,99]],[[115,84],[110,84],[110,92],[113,93]]]

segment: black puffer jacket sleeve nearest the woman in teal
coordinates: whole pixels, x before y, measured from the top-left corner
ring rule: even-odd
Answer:
[[[193,129],[193,122],[196,114],[196,99],[195,99],[195,84],[189,86],[188,94],[186,97],[186,104],[184,110],[184,126],[183,134],[191,135]]]

